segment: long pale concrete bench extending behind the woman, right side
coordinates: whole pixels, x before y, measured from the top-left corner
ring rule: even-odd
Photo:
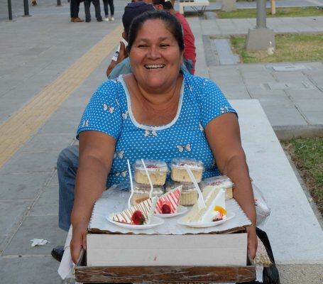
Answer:
[[[250,176],[271,207],[263,229],[281,283],[322,283],[323,230],[261,104],[253,99],[230,102],[239,114]]]

